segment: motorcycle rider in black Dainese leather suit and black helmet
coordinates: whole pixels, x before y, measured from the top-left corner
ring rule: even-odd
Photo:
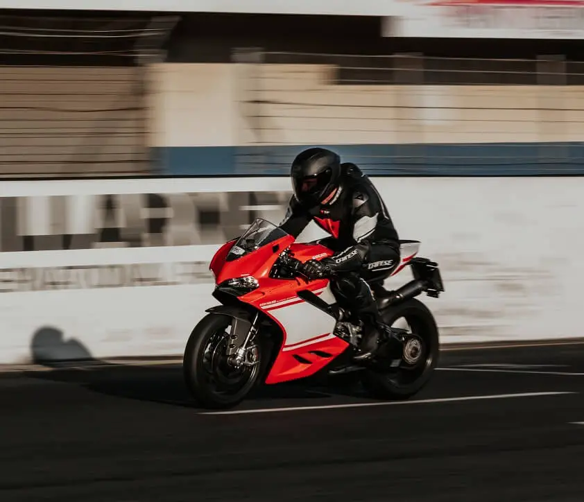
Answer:
[[[363,320],[355,359],[370,358],[388,331],[368,283],[383,284],[400,262],[400,241],[375,186],[359,167],[341,164],[325,148],[309,148],[291,166],[293,196],[280,228],[298,237],[311,220],[331,234],[320,241],[334,254],[305,263],[310,279],[328,277],[338,304]]]

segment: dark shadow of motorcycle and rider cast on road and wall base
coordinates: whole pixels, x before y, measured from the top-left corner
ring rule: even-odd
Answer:
[[[180,364],[115,364],[94,358],[77,340],[65,340],[60,329],[43,327],[33,336],[31,352],[35,364],[47,371],[28,371],[33,379],[82,386],[104,395],[197,408],[182,379]],[[336,382],[336,383],[335,383]],[[345,380],[346,382],[346,380]],[[326,390],[322,389],[327,383]],[[335,395],[364,397],[359,386],[341,384],[341,379],[306,379],[302,383],[260,386],[246,402],[278,399],[327,399]]]

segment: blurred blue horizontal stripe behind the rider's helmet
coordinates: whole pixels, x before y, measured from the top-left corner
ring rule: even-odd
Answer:
[[[326,145],[323,145],[326,146]],[[517,176],[584,174],[584,141],[572,143],[329,145],[369,175]],[[155,148],[162,175],[288,175],[307,146]]]

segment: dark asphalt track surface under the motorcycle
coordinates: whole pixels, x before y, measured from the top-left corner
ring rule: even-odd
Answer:
[[[230,415],[193,408],[177,365],[3,374],[0,501],[584,500],[584,344],[440,368],[402,404],[278,386]]]

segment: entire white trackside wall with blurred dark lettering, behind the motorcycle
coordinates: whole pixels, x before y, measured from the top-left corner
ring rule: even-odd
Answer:
[[[583,178],[374,181],[440,265],[446,292],[421,299],[443,343],[581,336]],[[4,182],[0,363],[182,354],[214,251],[289,196],[288,178]]]

